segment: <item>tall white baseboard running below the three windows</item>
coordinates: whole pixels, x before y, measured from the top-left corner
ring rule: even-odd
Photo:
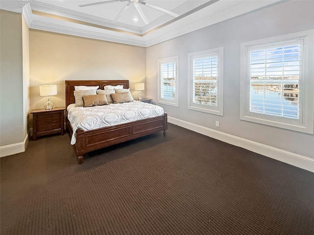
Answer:
[[[262,154],[266,157],[276,159],[278,161],[314,172],[314,159],[312,158],[291,153],[286,150],[275,148],[255,141],[246,140],[234,135],[210,129],[208,127],[200,126],[178,118],[172,118],[168,116],[168,122],[186,128],[188,130],[203,134],[205,136],[209,136],[219,141],[227,142],[235,146],[245,148],[252,152]]]

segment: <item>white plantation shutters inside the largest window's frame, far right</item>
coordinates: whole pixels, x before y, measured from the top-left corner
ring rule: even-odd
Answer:
[[[300,51],[303,40],[249,50],[249,111],[299,118]]]

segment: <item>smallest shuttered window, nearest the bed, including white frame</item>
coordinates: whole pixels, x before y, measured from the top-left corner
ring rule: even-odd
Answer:
[[[158,59],[158,103],[179,107],[179,56]]]

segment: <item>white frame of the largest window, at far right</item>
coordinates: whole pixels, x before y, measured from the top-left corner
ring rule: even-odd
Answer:
[[[241,43],[241,71],[240,71],[240,119],[264,125],[279,127],[283,129],[314,134],[314,83],[313,69],[310,65],[314,63],[313,42],[314,30],[307,30],[278,37],[266,38],[251,42]],[[299,51],[299,118],[286,118],[268,114],[250,112],[250,51],[259,48],[281,47],[288,42],[301,40],[302,50]],[[312,51],[312,54],[310,52]],[[312,91],[312,92],[311,92]],[[312,93],[312,94],[311,94]]]

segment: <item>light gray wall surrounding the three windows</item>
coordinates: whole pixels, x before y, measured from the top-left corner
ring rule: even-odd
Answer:
[[[146,92],[157,101],[157,59],[179,55],[179,108],[160,105],[170,117],[314,158],[314,135],[239,118],[240,43],[308,29],[314,29],[314,1],[283,1],[148,47]],[[215,47],[224,47],[223,117],[187,109],[187,53]]]

